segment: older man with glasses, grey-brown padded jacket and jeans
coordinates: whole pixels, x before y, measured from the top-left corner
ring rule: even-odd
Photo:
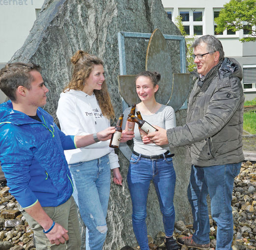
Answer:
[[[231,209],[234,177],[244,160],[242,150],[243,103],[242,69],[225,58],[221,42],[211,35],[193,43],[194,87],[189,97],[187,121],[148,134],[157,145],[187,147],[186,162],[192,164],[188,199],[194,219],[193,236],[178,239],[180,245],[208,249],[209,217],[206,196],[211,199],[216,221],[216,250],[231,250],[233,218]]]

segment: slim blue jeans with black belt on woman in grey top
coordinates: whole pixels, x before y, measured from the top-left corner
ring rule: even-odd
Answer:
[[[132,154],[127,181],[133,204],[133,231],[141,250],[149,250],[146,229],[146,202],[150,181],[153,180],[166,236],[171,236],[174,229],[175,211],[173,195],[176,175],[172,158],[151,160]]]

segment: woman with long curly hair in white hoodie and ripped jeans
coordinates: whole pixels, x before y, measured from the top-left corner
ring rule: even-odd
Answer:
[[[119,163],[109,141],[99,142],[97,132],[110,126],[114,109],[107,89],[103,61],[78,50],[71,62],[74,72],[60,94],[57,117],[66,134],[94,134],[97,142],[85,148],[65,151],[74,182],[76,203],[86,225],[86,250],[102,250],[107,234],[106,216],[110,195],[110,169],[114,183],[122,185]],[[123,136],[122,141],[132,139]]]

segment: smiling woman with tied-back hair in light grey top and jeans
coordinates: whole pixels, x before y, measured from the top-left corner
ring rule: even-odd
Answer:
[[[160,74],[145,71],[136,78],[136,90],[141,100],[136,105],[142,119],[151,125],[165,129],[175,126],[175,113],[171,106],[158,103],[155,93],[159,86]],[[124,118],[130,108],[124,111]],[[125,121],[123,127],[125,126]],[[175,221],[173,195],[176,175],[172,164],[172,156],[168,145],[158,146],[144,135],[143,139],[137,125],[134,128],[134,148],[130,159],[127,182],[131,194],[133,214],[133,231],[141,250],[149,250],[146,229],[146,203],[150,181],[152,180],[159,199],[163,223],[165,227],[167,250],[178,250],[178,245],[172,237]]]

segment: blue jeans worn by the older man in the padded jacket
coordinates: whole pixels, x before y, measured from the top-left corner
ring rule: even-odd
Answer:
[[[232,250],[233,216],[231,208],[234,177],[239,174],[241,162],[236,164],[198,167],[192,165],[188,199],[192,207],[193,240],[209,243],[209,216],[206,202],[211,199],[211,215],[217,224],[216,250]]]

